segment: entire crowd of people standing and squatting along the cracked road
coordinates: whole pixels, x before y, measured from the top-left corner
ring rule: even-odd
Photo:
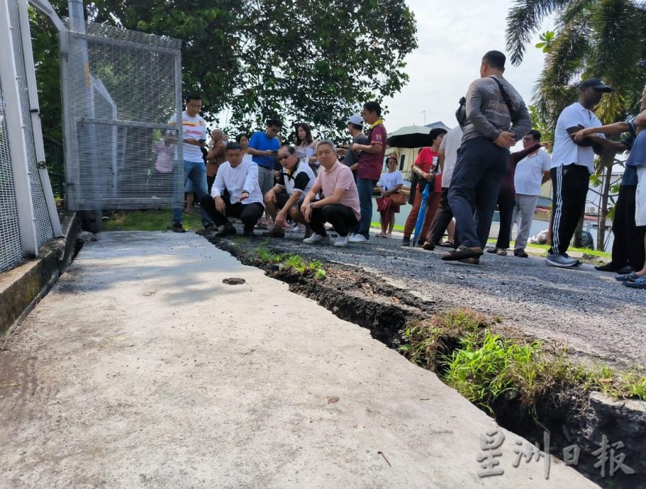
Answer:
[[[550,155],[550,147],[532,128],[523,99],[503,77],[505,62],[503,53],[486,52],[479,79],[460,100],[457,126],[433,130],[431,144],[418,153],[412,170],[412,209],[401,244],[427,250],[449,247],[442,260],[478,264],[485,251],[507,254],[517,222],[513,255],[526,258],[540,188],[551,179],[552,243],[545,262],[577,267],[579,260],[567,250],[584,213],[595,154],[630,151],[613,225],[612,261],[597,269],[618,272],[619,281],[646,288],[646,89],[637,117],[602,126],[593,108],[612,89],[596,78],[581,82],[578,100],[558,118]],[[389,155],[382,172],[387,134],[376,101],[365,103],[361,114],[347,119],[352,137],[347,150],[330,140],[317,141],[306,123],[294,127],[293,143],[282,142],[282,124],[274,119],[267,120],[264,131],[238,135],[235,141],[215,129],[207,145],[200,110],[199,94],[187,96],[182,113],[184,191],[196,194],[206,230],[233,235],[229,218],[238,218],[245,236],[252,236],[255,227],[267,228],[269,237],[301,231],[303,242],[316,244],[328,242],[328,224],[336,234],[335,246],[367,243],[377,189],[382,229],[374,236],[392,237],[395,214],[405,199],[404,180],[396,154]],[[628,135],[621,141],[605,137],[620,133]],[[520,140],[523,150],[510,153]],[[487,249],[496,206],[499,236]],[[172,230],[184,232],[181,207],[173,208],[172,218]],[[416,242],[411,242],[413,228]]]

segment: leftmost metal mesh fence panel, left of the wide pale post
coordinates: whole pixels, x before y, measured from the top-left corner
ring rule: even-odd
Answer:
[[[0,271],[9,270],[23,259],[18,223],[18,204],[13,186],[13,167],[6,128],[6,108],[0,80]]]

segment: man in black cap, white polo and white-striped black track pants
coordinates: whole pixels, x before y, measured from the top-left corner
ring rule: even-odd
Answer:
[[[598,78],[585,80],[579,86],[579,100],[564,108],[557,120],[550,168],[552,247],[545,258],[550,266],[572,268],[581,264],[578,259],[568,256],[567,248],[584,213],[590,175],[594,173],[594,153],[617,150],[601,134],[580,141],[574,139],[574,134],[584,128],[601,126],[592,108],[610,91],[611,87]]]

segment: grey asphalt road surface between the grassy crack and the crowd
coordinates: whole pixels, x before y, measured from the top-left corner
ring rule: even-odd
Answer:
[[[262,232],[254,241],[262,244]],[[614,274],[546,266],[542,258],[485,254],[479,265],[442,262],[447,251],[402,247],[401,239],[371,237],[364,245],[306,245],[302,236],[272,238],[275,247],[382,276],[445,307],[468,306],[500,315],[508,325],[541,339],[564,342],[592,361],[646,365],[646,291],[625,287]]]

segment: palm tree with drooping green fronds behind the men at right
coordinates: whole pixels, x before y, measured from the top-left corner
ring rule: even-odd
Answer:
[[[577,100],[581,79],[598,77],[613,86],[595,109],[602,123],[635,113],[646,82],[646,2],[630,0],[516,0],[507,16],[511,62],[523,61],[530,38],[547,16],[555,15],[556,36],[535,86],[533,104],[554,133],[559,113]],[[597,247],[603,249],[608,193],[614,159],[600,158],[603,175]]]

